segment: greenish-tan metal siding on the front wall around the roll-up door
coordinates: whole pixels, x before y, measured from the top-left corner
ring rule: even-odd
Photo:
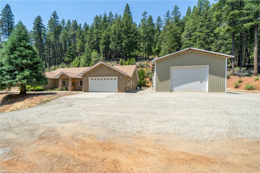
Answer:
[[[170,92],[170,67],[209,65],[209,92],[225,92],[226,58],[185,51],[156,61],[155,91]]]

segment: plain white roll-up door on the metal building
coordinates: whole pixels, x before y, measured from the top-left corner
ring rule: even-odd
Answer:
[[[171,67],[171,91],[208,92],[209,66]]]

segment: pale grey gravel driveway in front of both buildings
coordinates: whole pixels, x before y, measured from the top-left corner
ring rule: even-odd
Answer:
[[[117,93],[106,98],[59,98],[1,114],[1,128],[80,121],[106,130],[177,134],[190,140],[260,138],[259,93]],[[9,125],[5,125],[9,124]]]

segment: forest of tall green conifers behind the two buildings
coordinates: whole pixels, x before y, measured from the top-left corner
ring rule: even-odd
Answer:
[[[56,11],[46,24],[41,16],[32,22],[31,43],[46,69],[90,66],[100,60],[160,57],[187,47],[234,55],[233,67],[249,67],[259,59],[259,1],[210,4],[199,0],[192,11],[188,7],[186,14],[175,5],[156,19],[144,11],[138,22],[134,22],[128,4],[123,16],[105,12],[96,15],[91,24],[79,24],[76,19],[65,21]],[[2,42],[13,27],[14,16],[7,4],[1,11]]]

